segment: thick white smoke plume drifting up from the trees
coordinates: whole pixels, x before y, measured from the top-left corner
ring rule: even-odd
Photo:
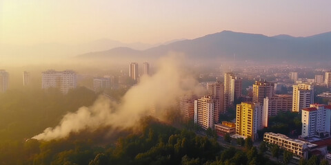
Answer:
[[[150,105],[170,107],[187,92],[199,93],[201,88],[197,80],[185,71],[182,61],[179,54],[162,58],[157,73],[143,76],[140,83],[123,96],[121,104],[100,96],[92,107],[81,107],[74,113],[67,113],[58,126],[45,129],[43,133],[32,138],[58,139],[86,129],[94,131],[101,126],[124,129],[134,126],[141,116],[148,115]]]

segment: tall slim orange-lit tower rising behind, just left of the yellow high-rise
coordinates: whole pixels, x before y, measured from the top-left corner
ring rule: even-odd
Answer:
[[[234,99],[241,97],[242,79],[234,76],[233,73],[224,75],[224,112],[232,107]]]

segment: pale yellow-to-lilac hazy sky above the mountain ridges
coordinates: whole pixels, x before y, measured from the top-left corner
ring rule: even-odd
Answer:
[[[232,30],[268,36],[331,31],[331,1],[0,0],[0,42],[159,43]]]

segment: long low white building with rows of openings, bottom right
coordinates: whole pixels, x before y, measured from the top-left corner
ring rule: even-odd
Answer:
[[[294,154],[294,158],[308,159],[308,152],[317,149],[317,144],[304,142],[302,140],[291,139],[281,133],[264,133],[263,142],[276,144],[279,148],[290,151]]]

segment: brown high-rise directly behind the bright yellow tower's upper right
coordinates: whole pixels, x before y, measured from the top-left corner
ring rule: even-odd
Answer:
[[[253,102],[263,103],[263,98],[274,96],[274,83],[255,81],[253,85]]]

